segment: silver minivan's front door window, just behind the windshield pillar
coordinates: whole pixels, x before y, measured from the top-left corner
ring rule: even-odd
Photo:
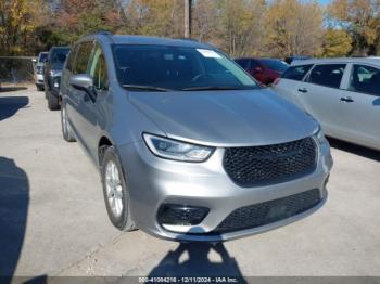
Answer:
[[[93,87],[97,90],[109,88],[109,76],[102,49],[98,46],[93,52],[90,76],[93,79]]]

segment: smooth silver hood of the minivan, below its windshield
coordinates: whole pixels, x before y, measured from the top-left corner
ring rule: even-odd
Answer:
[[[270,90],[129,92],[167,137],[214,146],[277,144],[312,135],[317,122]]]

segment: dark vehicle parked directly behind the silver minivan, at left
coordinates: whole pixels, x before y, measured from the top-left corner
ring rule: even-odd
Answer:
[[[51,111],[60,109],[62,68],[68,52],[68,47],[53,47],[50,49],[45,64],[45,96]]]

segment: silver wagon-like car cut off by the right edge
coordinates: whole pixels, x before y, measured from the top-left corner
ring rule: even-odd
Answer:
[[[296,62],[274,88],[327,135],[380,150],[380,57]]]

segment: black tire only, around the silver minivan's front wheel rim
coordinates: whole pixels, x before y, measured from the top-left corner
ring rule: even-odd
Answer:
[[[117,170],[119,172],[119,179],[122,182],[122,188],[123,188],[123,211],[119,217],[115,217],[114,214],[112,212],[112,209],[109,204],[109,198],[106,196],[105,168],[106,168],[106,164],[110,160],[113,160],[117,167]],[[130,214],[129,214],[129,193],[127,191],[127,182],[124,177],[119,158],[113,146],[109,146],[104,152],[103,160],[101,164],[101,177],[102,177],[104,203],[105,203],[106,211],[109,214],[109,218],[111,222],[113,223],[113,225],[115,225],[119,230],[126,230],[126,231],[129,230],[129,228],[132,225]]]

